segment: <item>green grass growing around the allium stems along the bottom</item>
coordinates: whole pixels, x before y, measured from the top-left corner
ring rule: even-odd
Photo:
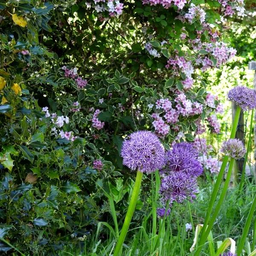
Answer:
[[[201,189],[197,200],[194,202],[185,202],[183,204],[174,204],[171,214],[165,221],[156,216],[158,203],[159,177],[155,175],[152,178],[152,195],[148,198],[148,208],[145,211],[144,218],[132,220],[128,236],[126,237],[122,256],[187,256],[193,255],[189,248],[193,243],[195,226],[203,224],[205,212],[212,193],[213,186],[209,181],[201,180]],[[207,179],[208,180],[208,179]],[[212,227],[212,238],[215,252],[217,251],[217,242],[224,241],[226,238],[232,238],[238,246],[244,224],[249,213],[253,196],[256,192],[254,182],[248,178],[244,180],[245,186],[242,193],[238,193],[239,186],[230,187],[221,205],[218,217]],[[217,197],[218,200],[218,197]],[[112,207],[113,208],[113,207]],[[193,230],[186,232],[185,225],[192,222]],[[122,227],[122,221],[119,221],[119,227]],[[161,228],[162,227],[162,228]],[[65,248],[58,253],[59,256],[109,256],[113,254],[116,244],[115,228],[109,224],[99,223],[98,229],[87,237],[84,241],[84,250],[71,250]],[[253,251],[256,245],[256,215],[250,225],[250,231],[247,236],[245,251],[241,255],[247,256]],[[104,239],[100,236],[104,233]],[[208,241],[204,244],[201,254],[211,255]]]

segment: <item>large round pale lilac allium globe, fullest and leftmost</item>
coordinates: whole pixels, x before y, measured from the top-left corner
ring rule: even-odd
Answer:
[[[123,164],[131,170],[154,172],[164,163],[164,148],[151,131],[137,131],[122,145]]]

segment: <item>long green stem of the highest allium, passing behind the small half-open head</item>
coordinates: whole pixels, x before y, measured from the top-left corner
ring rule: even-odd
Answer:
[[[237,128],[237,125],[238,125],[240,113],[241,113],[241,108],[237,107],[236,108],[235,118],[233,120],[233,125],[232,125],[231,134],[230,134],[230,139],[234,139],[235,138],[236,128]],[[223,161],[222,161],[222,164],[221,164],[221,169],[220,169],[220,172],[218,174],[216,183],[215,183],[213,191],[212,191],[212,196],[211,196],[211,199],[210,199],[210,202],[209,202],[209,206],[208,206],[208,209],[207,209],[207,213],[206,213],[206,216],[205,216],[204,226],[203,226],[203,228],[201,230],[201,237],[200,237],[200,240],[198,242],[198,246],[203,245],[202,237],[203,237],[203,235],[204,235],[204,233],[206,231],[206,228],[207,228],[207,225],[208,225],[208,222],[209,222],[209,219],[210,219],[210,215],[212,213],[212,209],[213,209],[213,206],[214,206],[214,202],[215,202],[215,199],[216,199],[216,197],[218,195],[218,190],[219,190],[219,188],[221,186],[221,181],[222,181],[222,178],[223,178],[226,166],[227,166],[227,161],[228,161],[228,157],[225,156],[223,158]],[[199,247],[199,248],[201,248],[201,247]],[[198,254],[195,254],[195,256],[199,255],[200,251],[201,251],[201,249],[199,250]]]

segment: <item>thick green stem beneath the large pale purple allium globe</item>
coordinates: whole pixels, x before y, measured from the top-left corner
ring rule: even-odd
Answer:
[[[131,202],[129,204],[129,207],[128,207],[128,210],[126,213],[125,221],[122,226],[122,230],[121,230],[120,236],[118,238],[118,241],[116,243],[116,248],[115,248],[113,256],[119,256],[120,250],[122,249],[122,244],[125,241],[125,236],[128,232],[131,218],[134,213],[134,209],[136,207],[137,199],[139,196],[142,176],[143,176],[143,172],[137,171],[137,176],[136,176],[136,180],[135,180],[135,184],[134,184],[134,190],[131,195]]]

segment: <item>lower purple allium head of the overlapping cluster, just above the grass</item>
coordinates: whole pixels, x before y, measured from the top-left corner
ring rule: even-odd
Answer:
[[[195,177],[186,175],[183,172],[172,172],[162,179],[160,194],[163,201],[170,200],[170,203],[176,201],[182,203],[184,200],[192,201],[195,198],[197,182]]]

